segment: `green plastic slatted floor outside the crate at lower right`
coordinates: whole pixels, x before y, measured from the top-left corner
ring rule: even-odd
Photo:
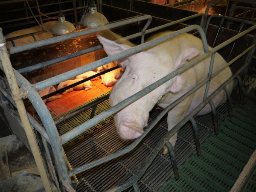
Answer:
[[[256,148],[256,103],[246,102],[233,109],[233,118],[219,125],[219,134],[211,134],[196,152],[179,167],[180,179],[174,175],[160,192],[224,192],[229,191],[250,155]],[[256,191],[256,172],[244,189]]]

